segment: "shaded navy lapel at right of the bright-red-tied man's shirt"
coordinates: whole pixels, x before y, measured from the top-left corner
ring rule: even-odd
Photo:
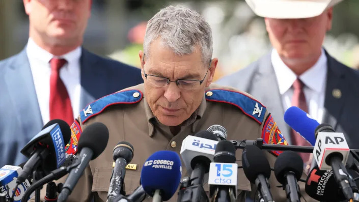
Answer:
[[[86,107],[87,104],[96,100],[99,94],[107,94],[107,92],[100,92],[106,88],[106,75],[101,71],[101,67],[96,66],[98,57],[82,48],[80,58],[81,68],[81,95],[80,95],[80,109]],[[101,78],[101,79],[100,79]]]

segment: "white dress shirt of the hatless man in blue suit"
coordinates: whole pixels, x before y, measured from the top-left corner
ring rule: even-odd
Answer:
[[[71,100],[73,117],[76,118],[80,111],[80,56],[81,47],[62,56],[67,63],[60,69],[60,78],[64,82]],[[34,40],[29,38],[26,46],[26,54],[29,59],[31,72],[35,85],[37,100],[39,102],[41,117],[44,124],[50,120],[50,60],[54,57],[51,53],[38,46]]]

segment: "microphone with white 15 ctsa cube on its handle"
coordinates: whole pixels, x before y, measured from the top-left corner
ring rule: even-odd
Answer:
[[[235,201],[237,197],[237,171],[235,148],[232,142],[219,141],[214,163],[209,166],[209,196],[212,201]]]

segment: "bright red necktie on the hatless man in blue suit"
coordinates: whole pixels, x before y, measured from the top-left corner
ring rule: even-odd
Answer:
[[[65,59],[53,58],[50,60],[50,120],[62,119],[71,126],[73,123],[73,112],[69,94],[64,82],[60,78],[60,69],[65,65]]]

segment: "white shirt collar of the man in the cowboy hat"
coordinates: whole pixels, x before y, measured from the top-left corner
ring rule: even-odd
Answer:
[[[277,82],[279,85],[279,92],[283,95],[287,92],[293,82],[297,78],[297,75],[281,60],[276,49],[272,49],[271,62],[274,68],[275,76],[277,76]],[[325,77],[327,72],[327,58],[323,48],[318,61],[309,68],[306,72],[299,76],[300,80],[316,92],[321,92],[325,84]]]

